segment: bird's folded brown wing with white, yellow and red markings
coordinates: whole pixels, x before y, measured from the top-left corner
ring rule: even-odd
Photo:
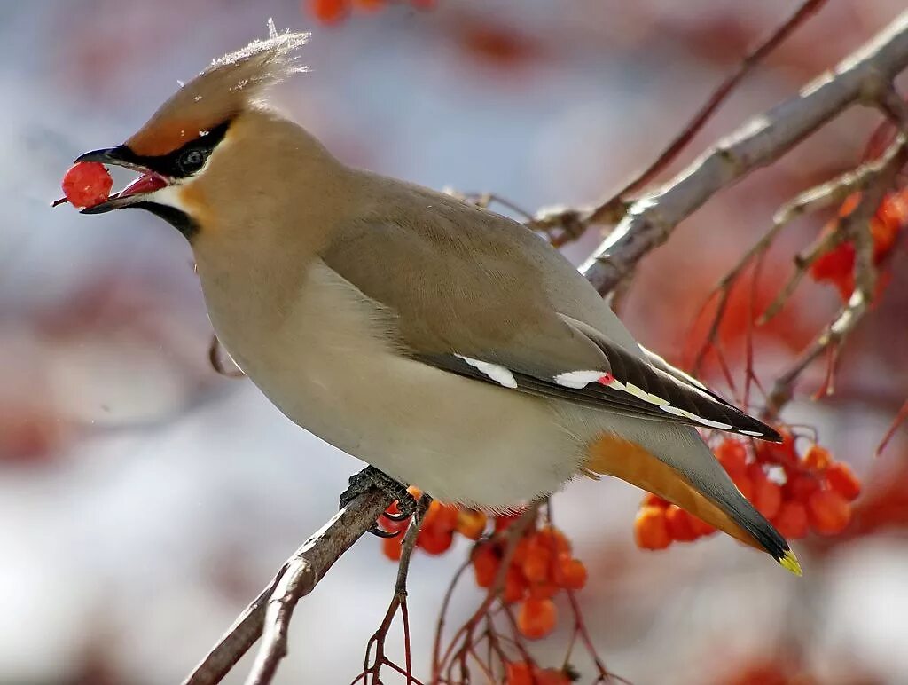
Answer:
[[[584,310],[572,289],[597,293],[528,229],[445,195],[428,201],[429,212],[389,203],[346,223],[322,253],[390,313],[404,353],[517,392],[779,440],[655,354],[616,342],[601,330],[607,319],[571,315]]]

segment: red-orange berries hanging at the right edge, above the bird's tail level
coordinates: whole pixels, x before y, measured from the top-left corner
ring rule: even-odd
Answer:
[[[854,212],[861,201],[861,194],[849,195],[839,208],[839,220]],[[893,250],[899,233],[908,226],[908,188],[898,193],[887,194],[877,207],[870,220],[870,233],[873,237],[873,263],[879,265]],[[827,223],[823,235],[835,231],[838,221]],[[854,243],[839,243],[832,250],[821,255],[810,265],[810,275],[814,281],[833,283],[848,302],[854,292]],[[881,278],[877,287],[882,288],[885,279]]]

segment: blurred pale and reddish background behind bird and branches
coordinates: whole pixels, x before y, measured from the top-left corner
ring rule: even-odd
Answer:
[[[272,101],[345,162],[494,192],[530,212],[590,204],[648,163],[793,5],[436,0],[326,25],[297,0],[0,2],[0,682],[182,680],[331,516],[361,466],[287,422],[250,382],[212,371],[211,328],[178,233],[145,213],[50,210],[77,154],[121,143],[178,79],[266,35],[274,17],[279,29],[313,35],[303,57],[311,73]],[[681,163],[795,94],[902,9],[903,0],[831,0]],[[641,342],[685,361],[690,323],[717,278],[779,204],[853,166],[878,121],[845,114],[720,194],[648,257],[624,307]],[[772,297],[822,222],[785,233],[761,297]],[[590,233],[568,255],[579,263],[599,240]],[[834,288],[804,283],[760,335],[767,384],[838,304]],[[638,684],[795,681],[771,680],[774,670],[814,679],[799,682],[908,682],[903,434],[873,458],[908,388],[906,321],[908,274],[895,270],[848,343],[836,396],[785,412],[814,426],[864,481],[849,531],[795,546],[804,579],[730,539],[638,550],[640,493],[618,481],[572,483],[555,497],[558,525],[590,571],[580,598],[611,670]],[[739,333],[725,331],[733,365]],[[823,372],[805,375],[802,398]],[[728,392],[719,376],[709,380]],[[418,673],[466,554],[459,544],[414,561]],[[395,572],[379,541],[360,541],[302,601],[277,681],[352,680]],[[449,625],[475,608],[470,584]],[[564,628],[538,644],[541,663],[563,656]],[[575,665],[589,681],[589,664]]]

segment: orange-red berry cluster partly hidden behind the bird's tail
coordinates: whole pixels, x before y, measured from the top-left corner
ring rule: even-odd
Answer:
[[[861,482],[823,446],[812,443],[799,454],[794,436],[780,432],[784,442],[760,442],[753,450],[743,441],[725,438],[716,446],[716,459],[741,494],[785,538],[800,540],[810,529],[821,535],[844,531]],[[644,497],[634,521],[637,546],[646,550],[663,550],[673,541],[694,541],[715,531],[653,494]]]

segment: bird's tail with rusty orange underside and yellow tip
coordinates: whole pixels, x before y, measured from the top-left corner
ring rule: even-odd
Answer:
[[[600,435],[587,449],[587,474],[616,476],[653,492],[801,575],[788,542],[738,491],[696,431],[669,424],[653,428],[649,423],[630,439]]]

